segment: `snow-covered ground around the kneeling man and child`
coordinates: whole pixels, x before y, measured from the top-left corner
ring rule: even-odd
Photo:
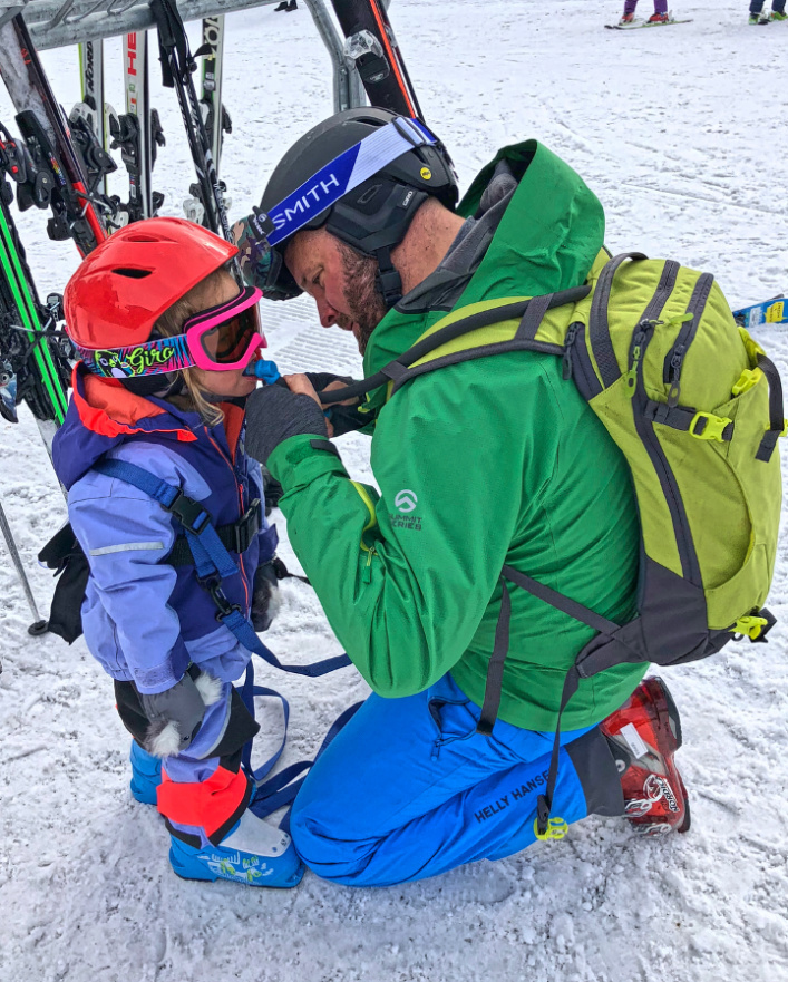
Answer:
[[[692,23],[629,33],[603,29],[620,0],[395,0],[391,16],[464,186],[499,145],[537,137],[596,191],[614,252],[710,270],[738,304],[788,289],[788,23],[750,28],[747,6],[677,0]],[[649,0],[641,8],[648,16]],[[234,133],[223,172],[235,216],[259,201],[286,146],[331,111],[331,85],[305,10],[233,14],[228,30]],[[119,106],[119,46],[111,51]],[[46,52],[45,62],[70,105],[76,52]],[[167,136],[155,186],[178,214],[191,162],[174,94],[154,91]],[[4,93],[0,119],[12,124]],[[76,251],[46,239],[40,213],[22,217],[41,292],[62,289]],[[358,364],[335,332],[315,349],[309,309],[294,307],[286,317],[278,308],[270,325],[289,367],[299,351]],[[785,372],[788,331],[758,338]],[[354,475],[370,479],[363,439],[343,443]],[[64,500],[30,418],[1,422],[0,447],[2,502],[45,607],[52,582],[35,554]],[[286,539],[282,553],[294,566]],[[689,835],[644,842],[624,820],[588,819],[506,862],[381,891],[309,873],[289,893],[177,879],[156,813],[129,796],[128,738],[108,679],[81,641],[28,636],[22,593],[1,563],[2,982],[788,980],[785,536],[770,603],[784,620],[770,643],[730,645],[668,673],[683,713]],[[271,648],[285,660],[335,653],[310,590],[283,592]],[[284,762],[311,755],[366,692],[352,670],[310,682],[261,665],[259,678],[291,701]],[[279,726],[275,708],[265,720]]]

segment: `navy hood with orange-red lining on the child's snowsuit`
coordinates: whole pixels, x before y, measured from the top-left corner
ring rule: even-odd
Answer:
[[[66,490],[126,440],[153,434],[182,443],[197,439],[194,429],[202,422],[196,412],[135,396],[116,379],[90,375],[82,362],[74,368],[71,386],[66,419],[52,441],[55,473]]]

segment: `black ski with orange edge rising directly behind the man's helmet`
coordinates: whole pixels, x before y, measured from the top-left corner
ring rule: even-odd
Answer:
[[[391,21],[380,0],[331,0],[346,37],[344,51],[356,62],[372,106],[424,123]]]

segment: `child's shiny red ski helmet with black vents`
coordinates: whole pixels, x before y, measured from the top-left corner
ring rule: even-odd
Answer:
[[[167,308],[236,254],[235,245],[185,218],[126,225],[89,253],[68,281],[68,333],[84,348],[147,341]]]

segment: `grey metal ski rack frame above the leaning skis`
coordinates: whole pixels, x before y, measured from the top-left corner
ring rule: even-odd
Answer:
[[[178,0],[177,7],[183,20],[188,21],[276,2],[279,0]],[[343,39],[325,3],[323,0],[301,2],[312,14],[331,58],[334,110],[366,105],[356,65],[346,57]],[[39,50],[156,29],[148,0],[0,0],[0,27],[20,11]]]

